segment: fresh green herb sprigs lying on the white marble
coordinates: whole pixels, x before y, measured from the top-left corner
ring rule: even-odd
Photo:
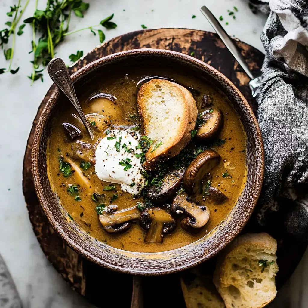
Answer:
[[[23,28],[26,24],[32,26],[32,50],[29,53],[33,53],[33,71],[28,78],[31,79],[32,83],[35,80],[41,79],[43,81],[43,74],[41,73],[44,67],[49,61],[55,56],[55,48],[61,43],[67,35],[89,29],[94,35],[98,34],[99,41],[103,43],[105,40],[105,34],[101,29],[96,29],[99,26],[103,26],[106,29],[115,29],[117,25],[111,21],[114,14],[101,20],[98,25],[86,27],[79,30],[69,32],[69,24],[71,20],[71,14],[74,13],[77,17],[83,18],[85,11],[89,9],[89,3],[83,0],[47,0],[45,10],[38,10],[38,0],[35,2],[35,10],[32,17],[26,18],[18,31],[17,26],[21,20],[22,14],[26,9],[30,0],[26,1],[25,6],[18,14],[18,10],[21,7],[21,0],[18,0],[18,4],[10,7],[10,12],[7,13],[9,17],[13,17],[13,21],[6,22],[6,26],[10,29],[5,28],[0,31],[0,47],[4,49],[4,45],[9,43],[9,38],[12,35],[12,47],[4,50],[4,56],[7,60],[10,59],[9,68],[0,69],[0,74],[10,71],[12,74],[17,73],[19,67],[16,70],[11,69],[12,59],[14,56],[15,47],[15,34],[21,35]],[[39,39],[37,39],[39,35]],[[72,54],[73,55],[73,54]],[[82,51],[77,53],[76,56],[82,55]],[[72,57],[70,56],[70,59]],[[74,57],[75,60],[76,57]],[[40,67],[42,66],[42,67]]]

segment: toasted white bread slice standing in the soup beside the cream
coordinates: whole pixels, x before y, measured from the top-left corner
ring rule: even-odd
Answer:
[[[137,103],[144,134],[154,141],[144,163],[146,169],[152,169],[156,163],[178,155],[190,141],[198,115],[196,101],[179,84],[152,79],[140,87]]]

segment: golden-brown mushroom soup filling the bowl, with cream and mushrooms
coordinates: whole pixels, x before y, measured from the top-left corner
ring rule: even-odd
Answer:
[[[165,146],[172,129],[164,127],[164,118],[144,115],[137,94],[150,81],[161,91],[161,80],[191,93],[185,97],[196,104],[197,120],[187,124],[188,142],[181,143],[180,133],[170,137],[179,153],[154,155],[146,168],[147,155]],[[49,180],[68,221],[115,248],[160,252],[197,241],[228,216],[246,182],[246,137],[228,99],[212,84],[172,68],[124,67],[81,90],[95,140],[66,103],[57,111],[47,151]],[[169,92],[169,99],[177,99]],[[165,103],[160,96],[151,108]],[[146,136],[145,119],[166,138]]]

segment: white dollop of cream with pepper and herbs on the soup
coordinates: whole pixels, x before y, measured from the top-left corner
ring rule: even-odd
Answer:
[[[99,179],[121,184],[121,189],[133,195],[144,187],[142,165],[138,149],[140,134],[130,129],[113,129],[108,132],[95,150],[95,173]]]

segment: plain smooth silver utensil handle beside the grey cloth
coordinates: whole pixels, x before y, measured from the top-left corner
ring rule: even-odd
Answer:
[[[229,37],[228,33],[221,26],[220,22],[216,19],[216,17],[212,14],[212,12],[206,6],[202,6],[200,10],[201,10],[202,14],[207,18],[209,23],[212,25],[212,27],[214,28],[216,33],[219,35],[221,40],[225,43],[226,47],[232,53],[233,57],[241,65],[241,67],[246,72],[246,74],[249,76],[249,78],[252,79],[249,82],[249,87],[250,87],[252,96],[256,97],[257,96],[257,92],[256,92],[257,88],[261,84],[261,77],[253,76],[249,66],[247,65],[245,59],[241,55],[241,52],[237,49],[234,41]]]

